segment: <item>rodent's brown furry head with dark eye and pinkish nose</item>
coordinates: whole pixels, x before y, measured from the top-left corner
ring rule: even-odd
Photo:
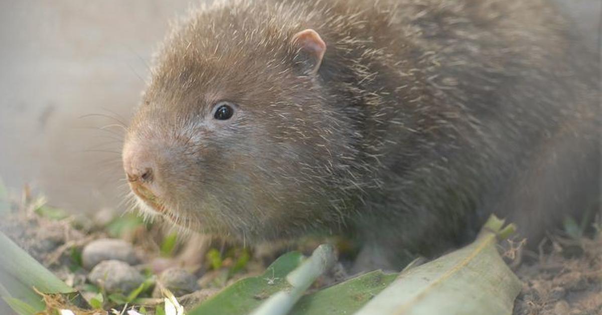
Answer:
[[[138,204],[246,240],[340,221],[325,208],[346,202],[334,186],[354,132],[318,72],[326,43],[228,12],[200,13],[158,55],[123,147]]]

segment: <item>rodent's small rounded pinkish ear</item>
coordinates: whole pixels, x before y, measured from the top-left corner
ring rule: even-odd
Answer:
[[[303,75],[314,75],[320,69],[326,43],[316,31],[308,29],[293,36],[291,45],[296,51],[294,63]]]

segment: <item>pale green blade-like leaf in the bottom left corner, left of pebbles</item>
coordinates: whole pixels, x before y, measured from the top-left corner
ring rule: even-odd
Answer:
[[[19,314],[33,314],[28,310],[39,312],[45,309],[42,298],[34,288],[43,294],[62,294],[69,300],[82,303],[75,289],[58,279],[2,232],[0,252],[0,296],[14,307],[13,310],[23,312]]]

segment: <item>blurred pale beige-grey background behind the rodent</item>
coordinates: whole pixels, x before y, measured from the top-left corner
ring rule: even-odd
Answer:
[[[29,183],[71,211],[117,208],[127,188],[115,119],[127,123],[169,21],[198,1],[2,0],[5,184],[17,191]],[[592,48],[600,45],[601,0],[554,1],[575,17]]]

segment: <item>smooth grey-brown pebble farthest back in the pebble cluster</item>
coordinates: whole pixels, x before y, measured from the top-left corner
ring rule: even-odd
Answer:
[[[98,239],[90,242],[81,253],[85,269],[92,269],[101,261],[120,260],[128,264],[137,264],[134,248],[128,242],[118,239]]]

